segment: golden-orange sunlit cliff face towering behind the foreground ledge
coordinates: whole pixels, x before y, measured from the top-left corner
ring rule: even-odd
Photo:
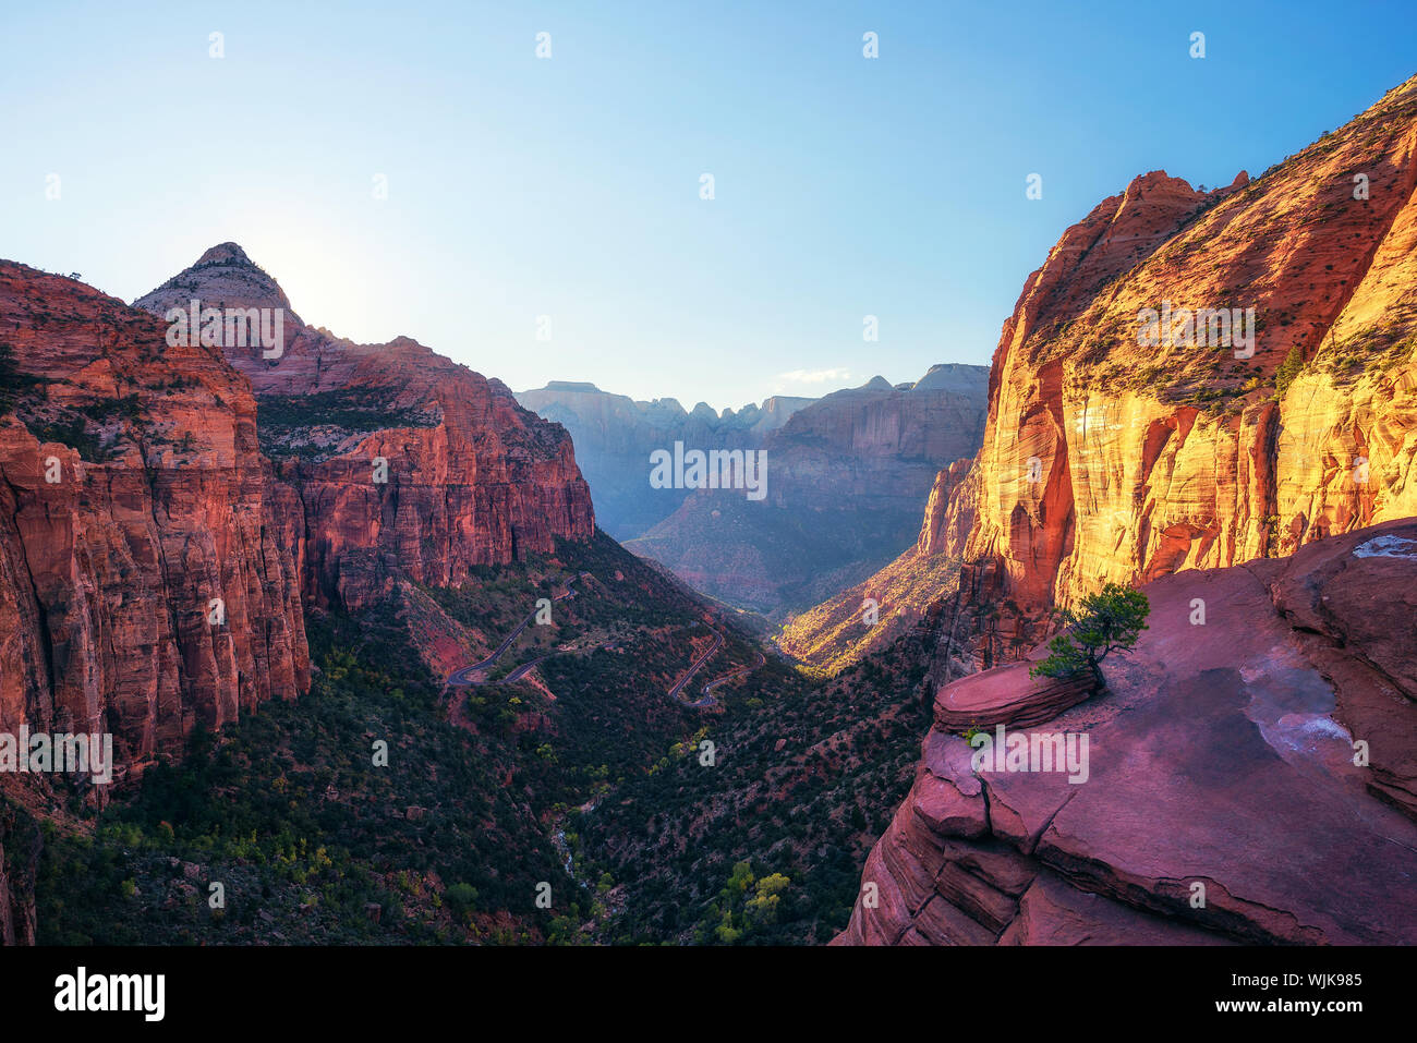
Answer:
[[[990,370],[965,557],[992,597],[1036,619],[1417,514],[1414,150],[1417,79],[1257,181],[1153,171],[1063,235]],[[1141,346],[1168,303],[1254,308],[1253,357]]]

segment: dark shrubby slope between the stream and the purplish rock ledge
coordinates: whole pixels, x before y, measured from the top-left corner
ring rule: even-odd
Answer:
[[[866,855],[914,779],[932,649],[911,632],[826,683],[768,658],[720,687],[721,716],[653,772],[572,812],[577,863],[635,880],[609,940],[822,944],[845,928]],[[774,880],[757,904],[757,883],[738,887],[774,874],[791,886]]]

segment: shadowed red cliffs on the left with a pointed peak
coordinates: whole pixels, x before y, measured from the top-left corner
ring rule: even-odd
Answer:
[[[285,353],[169,344],[190,298],[283,309]],[[122,777],[307,689],[307,608],[594,534],[564,429],[410,339],[306,326],[239,247],[139,305],[0,265],[0,730],[111,731]],[[296,422],[258,435],[258,404]]]

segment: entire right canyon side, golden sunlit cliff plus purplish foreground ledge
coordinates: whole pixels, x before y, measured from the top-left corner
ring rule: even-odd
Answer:
[[[1414,153],[1417,78],[1254,181],[1138,177],[1029,276],[979,453],[786,635],[850,653],[843,615],[894,590],[937,642],[835,944],[1417,941]],[[1255,308],[1253,353],[1144,344],[1162,302]],[[1107,582],[1151,599],[1134,655],[1091,697],[1033,680],[1051,611]],[[981,769],[993,724],[1088,735],[1090,781]]]

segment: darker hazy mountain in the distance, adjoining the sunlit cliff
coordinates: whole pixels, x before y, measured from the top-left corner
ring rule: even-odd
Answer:
[[[765,499],[697,490],[626,546],[734,605],[815,605],[910,547],[939,469],[978,449],[985,390],[982,367],[935,366],[826,395],[762,439]]]

